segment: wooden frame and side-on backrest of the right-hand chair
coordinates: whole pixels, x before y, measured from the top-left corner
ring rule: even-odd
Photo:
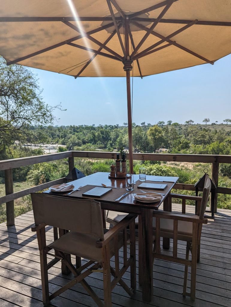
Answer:
[[[173,213],[173,212],[165,212],[165,211],[162,211],[162,212],[154,211],[153,212],[153,217],[156,218],[156,229],[154,233],[155,240],[154,240],[154,247],[153,247],[153,262],[155,258],[157,258],[157,259],[162,259],[162,260],[185,265],[182,294],[183,294],[183,297],[190,296],[191,300],[195,300],[196,268],[197,268],[197,262],[199,262],[200,260],[200,240],[201,240],[202,224],[206,224],[208,222],[208,220],[204,217],[204,212],[206,210],[206,204],[207,204],[208,197],[210,194],[210,189],[211,189],[211,182],[210,182],[209,177],[207,176],[202,197],[188,196],[188,195],[181,195],[181,194],[169,194],[169,199],[168,199],[169,211],[171,211],[171,199],[181,198],[182,199],[182,214]],[[198,202],[197,215],[186,215],[185,214],[186,199],[196,200]],[[162,230],[160,228],[160,219],[173,220],[173,232],[169,232],[169,237],[173,239],[172,256],[161,254],[160,236],[163,236],[163,235],[161,235]],[[180,233],[178,232],[178,221],[192,223],[192,234],[185,235],[185,237],[181,235],[179,239]],[[166,231],[165,231],[165,235],[166,235]],[[177,257],[178,239],[187,242],[185,259]],[[191,260],[189,259],[189,251],[191,251]],[[186,291],[187,290],[188,266],[191,266],[190,293]]]

